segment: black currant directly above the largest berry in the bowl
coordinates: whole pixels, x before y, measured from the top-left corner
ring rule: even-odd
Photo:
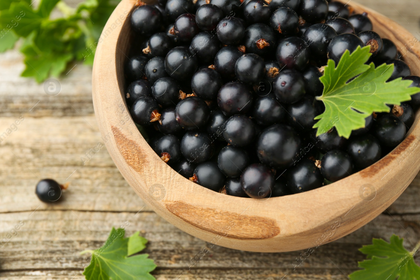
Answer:
[[[275,123],[281,123],[285,116],[284,106],[278,102],[276,96],[272,93],[255,99],[252,117],[262,126],[270,126]]]

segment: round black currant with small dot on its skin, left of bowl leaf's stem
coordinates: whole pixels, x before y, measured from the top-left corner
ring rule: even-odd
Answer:
[[[292,104],[305,94],[305,81],[300,72],[294,69],[281,71],[273,81],[273,92],[278,101]]]

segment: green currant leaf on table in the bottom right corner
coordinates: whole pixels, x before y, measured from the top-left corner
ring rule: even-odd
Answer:
[[[407,251],[403,241],[396,235],[391,236],[390,243],[373,238],[372,245],[359,249],[368,259],[359,262],[364,269],[350,274],[350,280],[420,280],[420,267],[413,258],[415,252]]]

